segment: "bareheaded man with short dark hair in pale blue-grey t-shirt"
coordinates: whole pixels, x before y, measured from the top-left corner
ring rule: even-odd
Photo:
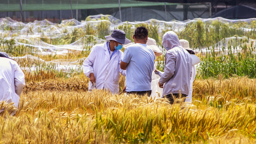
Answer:
[[[154,52],[147,47],[148,30],[138,27],[134,32],[134,42],[124,50],[120,68],[126,70],[126,92],[128,94],[151,94],[151,78],[154,70]]]

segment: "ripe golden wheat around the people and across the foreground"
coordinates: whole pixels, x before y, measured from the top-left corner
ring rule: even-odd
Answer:
[[[25,75],[16,115],[0,117],[1,143],[256,142],[256,79],[195,80],[192,105],[170,105],[165,98],[88,92],[83,74]]]

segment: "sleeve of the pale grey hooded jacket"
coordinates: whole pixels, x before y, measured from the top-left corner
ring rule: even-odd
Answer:
[[[164,66],[164,73],[161,74],[161,78],[159,80],[160,84],[164,84],[168,81],[175,72],[175,63],[176,63],[176,56],[170,52],[166,53],[166,64]]]

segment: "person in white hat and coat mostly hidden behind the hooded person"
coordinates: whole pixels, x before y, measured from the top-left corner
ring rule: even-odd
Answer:
[[[192,67],[191,67],[192,76],[190,79],[188,98],[186,98],[186,100],[185,100],[185,102],[191,103],[192,102],[193,82],[196,77],[196,66],[195,65],[199,64],[201,61],[196,55],[194,55],[195,52],[191,48],[189,48],[189,42],[187,40],[184,40],[184,39],[180,40],[180,44],[185,50],[188,51],[189,54],[191,54],[191,58],[192,58]]]

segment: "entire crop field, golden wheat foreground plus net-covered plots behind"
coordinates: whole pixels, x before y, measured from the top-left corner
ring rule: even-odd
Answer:
[[[42,26],[2,20],[0,51],[18,62],[26,86],[18,108],[0,103],[0,144],[256,143],[256,19],[115,24],[102,17]],[[190,42],[202,60],[191,104],[88,92],[82,62],[92,46],[116,28],[132,40],[137,26],[148,28],[159,47],[170,30]],[[164,54],[155,62],[163,71]],[[124,86],[120,75],[120,91]]]

